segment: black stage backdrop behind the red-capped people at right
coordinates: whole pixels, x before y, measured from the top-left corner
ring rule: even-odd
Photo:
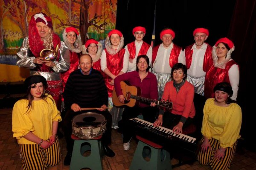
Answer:
[[[252,80],[255,78],[256,0],[119,0],[116,29],[123,33],[125,45],[134,41],[134,26],[146,28],[144,40],[150,44],[154,16],[155,45],[161,43],[160,32],[165,27],[175,31],[173,42],[183,48],[194,43],[192,32],[198,27],[209,29],[206,42],[212,46],[221,37],[234,42],[232,58],[240,69],[237,101],[243,114],[241,135],[245,146],[256,151],[256,135],[252,135],[256,129],[255,99],[250,99],[255,98]]]

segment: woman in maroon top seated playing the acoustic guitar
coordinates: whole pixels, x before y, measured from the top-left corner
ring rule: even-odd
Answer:
[[[141,97],[155,100],[157,98],[157,78],[149,70],[149,59],[147,55],[140,55],[136,61],[136,71],[127,72],[119,75],[114,79],[114,86],[116,96],[118,100],[125,104],[125,96],[122,93],[121,81],[128,82],[131,86],[137,86],[141,90]],[[114,100],[114,99],[113,99]],[[130,149],[130,140],[134,130],[128,125],[130,118],[135,118],[139,114],[143,115],[145,121],[154,122],[157,107],[154,102],[145,103],[140,102],[139,105],[134,107],[125,106],[124,112],[122,113],[122,127],[123,127],[123,147],[124,150]]]

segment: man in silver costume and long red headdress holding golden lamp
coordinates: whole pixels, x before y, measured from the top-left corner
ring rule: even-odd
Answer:
[[[20,51],[17,52],[17,65],[30,69],[30,75],[42,75],[47,80],[46,92],[55,100],[61,110],[62,83],[60,72],[70,67],[69,56],[58,52],[55,61],[40,57],[43,49],[55,50],[61,46],[60,38],[53,32],[52,20],[44,13],[37,13],[29,22],[29,36],[25,37]]]

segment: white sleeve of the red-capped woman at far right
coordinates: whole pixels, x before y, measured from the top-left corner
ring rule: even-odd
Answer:
[[[234,64],[230,67],[228,70],[228,76],[230,79],[230,85],[233,90],[233,95],[231,99],[236,101],[237,98],[237,92],[238,92],[238,86],[239,86],[239,67],[238,65]]]

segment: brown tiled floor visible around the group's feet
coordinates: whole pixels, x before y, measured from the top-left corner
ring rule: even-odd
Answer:
[[[64,138],[61,138],[63,157],[66,156]],[[122,135],[117,130],[112,130],[112,150],[116,153],[113,158],[103,158],[103,170],[128,170],[136,150],[137,143],[131,140],[131,149],[125,151],[122,148]],[[21,160],[16,139],[12,137],[12,109],[0,109],[0,170],[20,170]],[[177,160],[172,159],[172,164]],[[239,150],[233,160],[231,170],[256,170],[256,153],[245,149]],[[58,170],[69,170],[69,166],[63,165],[63,159],[58,164]],[[208,166],[202,166],[195,161],[193,164],[184,164],[173,170],[210,170]]]

